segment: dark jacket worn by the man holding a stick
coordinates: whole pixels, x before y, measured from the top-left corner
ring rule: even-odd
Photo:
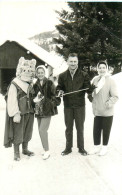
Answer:
[[[90,87],[89,76],[86,72],[77,69],[75,75],[71,77],[70,71],[59,75],[57,91],[63,90],[64,93],[73,92]],[[67,108],[77,108],[85,105],[85,91],[63,96],[64,106]]]

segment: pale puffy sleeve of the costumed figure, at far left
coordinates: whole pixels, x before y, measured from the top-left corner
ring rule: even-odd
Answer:
[[[20,113],[17,100],[17,88],[14,84],[10,85],[8,91],[7,111],[10,117],[13,117],[16,113]]]

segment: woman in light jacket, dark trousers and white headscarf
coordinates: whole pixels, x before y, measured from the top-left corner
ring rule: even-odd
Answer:
[[[92,80],[92,84],[96,88],[92,94],[94,150],[90,154],[103,156],[107,153],[113,122],[114,104],[118,100],[118,94],[116,84],[110,74],[108,74],[108,65],[105,61],[98,63],[97,71],[98,76],[95,76]],[[101,135],[103,136],[102,147],[100,145]]]

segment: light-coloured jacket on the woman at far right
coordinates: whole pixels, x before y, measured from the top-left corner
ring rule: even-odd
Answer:
[[[97,86],[99,76],[93,79],[93,84]],[[118,100],[118,93],[115,81],[111,76],[105,77],[105,84],[101,90],[96,93],[96,89],[93,92],[93,114],[95,116],[113,116],[114,104]]]

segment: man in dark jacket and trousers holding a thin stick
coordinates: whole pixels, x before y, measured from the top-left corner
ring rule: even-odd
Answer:
[[[59,75],[57,86],[59,96],[63,95],[66,125],[66,148],[61,154],[67,155],[72,152],[73,123],[75,121],[77,129],[77,147],[79,153],[86,156],[87,152],[84,149],[85,92],[90,87],[90,80],[88,74],[78,68],[77,54],[70,53],[67,64],[69,68]],[[66,93],[69,94],[65,95]]]

